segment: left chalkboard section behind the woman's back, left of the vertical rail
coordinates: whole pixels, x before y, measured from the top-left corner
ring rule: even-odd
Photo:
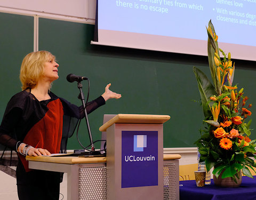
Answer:
[[[23,57],[33,51],[34,18],[0,13],[0,120],[13,94],[21,91],[19,81]],[[1,147],[0,147],[1,149]]]

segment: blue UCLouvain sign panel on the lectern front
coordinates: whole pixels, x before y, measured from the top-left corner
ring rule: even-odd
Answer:
[[[122,188],[158,185],[158,131],[122,131]]]

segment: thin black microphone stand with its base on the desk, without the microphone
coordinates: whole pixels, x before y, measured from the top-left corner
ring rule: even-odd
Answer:
[[[90,143],[91,143],[91,151],[82,152],[80,155],[99,155],[100,152],[95,151],[95,147],[94,147],[93,140],[92,140],[92,133],[91,133],[89,119],[88,119],[88,115],[87,115],[87,111],[86,111],[86,105],[85,105],[85,101],[84,101],[84,94],[83,94],[83,91],[82,91],[82,88],[83,88],[82,83],[77,82],[77,87],[80,91],[80,94],[79,94],[78,98],[82,100],[85,119],[86,119],[87,130],[88,130],[88,133],[89,133],[89,138],[90,138]]]

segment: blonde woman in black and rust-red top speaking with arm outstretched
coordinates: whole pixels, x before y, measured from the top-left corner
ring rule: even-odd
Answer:
[[[20,68],[22,91],[7,104],[0,126],[0,143],[18,153],[17,188],[19,199],[59,199],[59,172],[29,170],[26,155],[41,156],[65,153],[70,137],[71,118],[84,117],[83,106],[77,107],[50,91],[59,78],[59,65],[47,51],[31,52]],[[109,90],[87,103],[86,111],[105,104],[108,99],[121,98]],[[74,126],[73,126],[74,127]]]

